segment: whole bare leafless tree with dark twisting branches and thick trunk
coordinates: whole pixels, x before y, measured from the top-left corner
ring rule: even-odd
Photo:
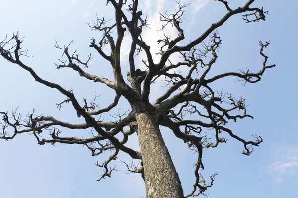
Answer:
[[[246,117],[253,118],[247,114],[246,101],[240,97],[236,99],[229,93],[216,91],[212,84],[225,77],[235,77],[242,84],[256,83],[261,80],[265,70],[275,65],[268,65],[268,57],[263,50],[268,47],[269,42],[259,42],[260,55],[264,58],[260,70],[253,73],[247,70],[239,72],[227,72],[207,77],[211,67],[215,65],[218,58],[218,49],[221,46],[221,37],[218,28],[222,26],[230,17],[237,14],[243,15],[243,20],[247,23],[265,20],[263,8],[253,7],[254,0],[248,0],[242,7],[232,9],[225,0],[215,0],[222,3],[227,13],[195,40],[179,45],[184,40],[183,20],[184,8],[186,4],[178,2],[174,13],[160,13],[160,20],[163,31],[167,26],[172,26],[177,31],[176,38],[170,38],[164,34],[163,38],[156,39],[161,44],[159,51],[160,60],[153,61],[150,46],[142,39],[142,29],[148,28],[147,17],[138,9],[138,0],[107,0],[107,6],[112,6],[115,11],[115,20],[97,18],[97,21],[89,26],[102,33],[102,38],[96,41],[92,38],[90,47],[94,48],[105,62],[111,65],[114,79],[109,80],[100,76],[89,74],[85,71],[91,60],[91,55],[87,61],[83,61],[76,54],[76,51],[69,52],[70,43],[67,46],[60,46],[56,42],[55,47],[62,49],[65,60],[61,59],[57,68],[70,68],[80,76],[91,80],[94,83],[102,83],[115,91],[115,98],[111,104],[105,108],[98,108],[94,100],[88,103],[86,99],[82,103],[75,97],[73,90],[66,90],[62,86],[40,78],[36,72],[27,66],[22,56],[28,56],[26,50],[22,50],[23,38],[17,34],[12,38],[6,38],[0,42],[1,56],[11,63],[17,64],[27,70],[31,76],[39,83],[47,87],[55,88],[66,96],[61,103],[56,104],[60,109],[65,103],[71,103],[77,112],[78,117],[84,119],[84,123],[67,123],[57,120],[52,116],[39,116],[34,111],[23,119],[16,110],[12,113],[8,111],[0,112],[3,115],[2,131],[0,138],[5,140],[13,139],[22,133],[33,134],[39,145],[46,143],[81,144],[87,146],[92,152],[92,156],[99,155],[104,151],[113,151],[113,154],[103,163],[97,164],[103,167],[104,174],[98,179],[110,177],[115,169],[110,162],[116,160],[119,151],[127,153],[138,165],[124,162],[128,170],[132,173],[140,173],[145,181],[147,198],[182,198],[205,195],[206,189],[213,185],[217,174],[210,176],[210,182],[206,182],[201,173],[203,170],[202,151],[204,148],[215,148],[219,143],[227,140],[221,137],[221,133],[228,134],[244,145],[242,154],[250,155],[253,146],[259,146],[263,141],[260,136],[254,135],[254,141],[246,141],[235,135],[227,126],[228,121],[236,122],[237,119]],[[112,33],[113,31],[116,32]],[[125,34],[129,34],[132,39],[129,51],[129,73],[124,79],[121,72],[120,49]],[[111,53],[106,54],[104,46],[110,48]],[[146,70],[136,68],[135,59],[140,52],[145,52],[146,60],[142,60]],[[169,57],[178,55],[180,62],[172,63]],[[187,68],[186,74],[177,73],[179,68]],[[149,94],[152,83],[163,80],[168,86],[167,91],[155,102],[149,102]],[[100,116],[114,109],[120,97],[124,97],[131,106],[131,110],[126,113],[115,114],[118,121],[103,121]],[[237,114],[237,112],[241,114]],[[190,116],[195,114],[196,116]],[[168,127],[173,134],[183,140],[191,150],[198,154],[195,166],[195,181],[193,190],[189,194],[183,193],[181,182],[175,170],[171,156],[163,141],[159,126]],[[129,130],[124,130],[129,127]],[[61,128],[69,129],[92,129],[94,132],[91,138],[65,137],[61,133]],[[206,129],[212,129],[212,133],[206,134]],[[47,132],[49,131],[49,137]],[[210,131],[210,130],[209,130]],[[96,133],[96,134],[95,134]],[[140,151],[133,150],[126,146],[130,135],[137,133]],[[123,139],[115,137],[122,134]],[[140,164],[140,166],[139,166]]]

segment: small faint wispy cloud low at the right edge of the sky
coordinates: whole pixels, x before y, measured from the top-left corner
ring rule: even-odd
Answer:
[[[298,146],[284,146],[274,153],[274,161],[269,164],[268,171],[275,175],[275,183],[284,183],[298,176]]]

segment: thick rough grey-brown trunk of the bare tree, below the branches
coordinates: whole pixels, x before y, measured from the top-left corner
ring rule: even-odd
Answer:
[[[153,113],[137,114],[147,198],[183,198],[178,173]]]

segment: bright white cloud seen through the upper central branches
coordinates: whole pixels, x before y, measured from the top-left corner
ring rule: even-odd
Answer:
[[[159,13],[165,13],[167,11],[167,14],[174,13],[175,9],[177,10],[177,4],[175,3],[174,0],[170,1],[166,0],[145,0],[143,4],[140,5],[141,10],[145,10],[144,13],[148,16],[147,18],[147,23],[149,24],[150,28],[143,28],[142,30],[142,39],[143,41],[146,42],[147,45],[150,46],[150,52],[153,56],[153,61],[154,63],[158,63],[160,60],[160,55],[157,55],[160,51],[161,46],[163,43],[161,42],[158,44],[158,40],[164,38],[164,35],[167,37],[170,37],[170,40],[176,38],[178,36],[178,31],[175,27],[173,27],[171,24],[168,24],[163,31],[157,31],[160,30],[162,25],[165,25],[163,21],[160,21],[160,14]],[[179,45],[179,44],[178,44]],[[163,48],[165,51],[167,49],[167,46]],[[169,60],[175,64],[181,59],[179,58],[181,54],[175,53],[172,54],[169,57]],[[146,70],[147,67],[141,62],[141,60],[147,60],[146,54],[143,51],[140,53],[139,56],[137,56],[137,61],[136,61],[136,67],[139,67],[141,70]],[[167,62],[166,64],[169,64]],[[176,68],[171,70],[171,72],[176,72],[176,73],[184,73],[185,68]],[[168,87],[165,86],[165,82],[163,82],[164,78],[158,78],[154,84],[152,84],[151,87],[151,92],[149,96],[150,101],[156,100],[162,93],[164,93]]]

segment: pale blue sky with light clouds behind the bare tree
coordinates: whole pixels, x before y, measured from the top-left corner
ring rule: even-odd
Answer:
[[[142,1],[141,1],[142,2]],[[213,0],[182,0],[191,5],[186,8],[186,20],[182,23],[186,41],[198,37],[212,23],[225,13],[222,3]],[[246,0],[230,0],[230,6],[242,6]],[[94,49],[89,48],[90,38],[100,38],[101,34],[91,31],[86,22],[94,22],[96,13],[99,17],[113,18],[111,6],[105,6],[103,0],[0,0],[1,20],[0,39],[18,31],[25,36],[23,49],[29,50],[33,58],[24,58],[41,77],[66,87],[73,88],[78,99],[91,99],[96,93],[101,94],[98,102],[107,106],[113,99],[111,90],[100,84],[88,82],[77,73],[57,70],[62,51],[55,49],[55,39],[61,45],[74,43],[71,50],[78,50],[81,57],[87,58],[91,52],[94,59],[88,72],[101,77],[112,78],[107,64],[100,59]],[[213,67],[213,74],[238,71],[250,68],[259,71],[262,58],[258,54],[258,41],[271,40],[265,54],[269,64],[277,67],[265,72],[261,82],[242,86],[236,79],[225,79],[214,88],[243,96],[249,104],[248,112],[255,119],[239,120],[228,123],[233,132],[245,139],[253,139],[251,134],[262,136],[264,142],[255,148],[250,156],[241,155],[242,144],[229,139],[227,144],[204,150],[203,163],[205,178],[218,172],[214,186],[209,189],[209,197],[230,198],[296,198],[298,194],[298,134],[296,112],[298,110],[296,46],[297,46],[297,1],[294,0],[256,0],[255,6],[264,6],[269,10],[266,21],[246,24],[241,16],[234,16],[227,21],[219,33],[222,46],[219,59]],[[151,29],[144,30],[143,39],[157,52],[156,38],[160,32],[158,11],[171,11],[174,1],[147,0],[140,5],[148,15]],[[175,36],[174,30],[166,33]],[[122,61],[124,72],[127,68],[127,49],[130,46],[129,35],[123,43]],[[106,49],[108,50],[108,49]],[[140,54],[142,58],[143,54]],[[173,57],[175,60],[175,57]],[[158,60],[156,56],[154,60]],[[138,62],[140,63],[140,61]],[[139,67],[143,66],[139,64]],[[124,73],[123,72],[123,73]],[[11,110],[19,106],[19,112],[26,115],[35,108],[37,114],[51,115],[68,122],[83,122],[78,119],[69,105],[60,111],[56,103],[65,98],[56,90],[37,84],[33,78],[17,65],[0,58],[0,111]],[[162,94],[161,83],[152,89],[150,99]],[[112,93],[110,96],[109,94]],[[121,111],[129,107],[121,101]],[[113,119],[106,115],[106,119]],[[179,173],[184,193],[192,190],[194,182],[193,167],[196,155],[181,140],[177,140],[171,131],[161,128],[163,137],[170,150]],[[66,136],[88,137],[90,131],[63,129]],[[228,136],[225,136],[228,137]],[[129,140],[132,148],[138,149],[137,137]],[[12,141],[0,141],[0,196],[3,198],[82,198],[82,197],[145,197],[144,182],[139,175],[125,173],[125,165],[116,162],[121,171],[113,172],[112,178],[101,182],[96,180],[102,169],[95,166],[102,162],[109,153],[92,157],[86,147],[79,145],[43,145],[37,144],[34,137],[23,134]],[[129,160],[126,154],[120,154],[121,160]],[[208,181],[208,180],[207,180]]]

